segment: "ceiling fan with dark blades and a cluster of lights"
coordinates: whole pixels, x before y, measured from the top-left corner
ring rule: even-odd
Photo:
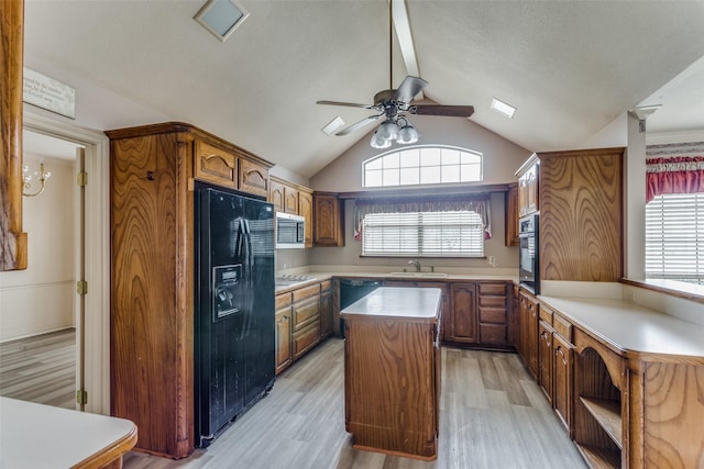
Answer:
[[[413,104],[413,99],[428,85],[428,81],[419,77],[407,76],[397,89],[393,89],[392,67],[392,30],[393,30],[393,0],[388,2],[388,48],[389,48],[389,89],[382,90],[374,96],[374,104],[356,104],[340,101],[317,101],[318,104],[344,105],[363,108],[376,111],[349,127],[337,132],[336,135],[348,135],[359,129],[372,124],[382,118],[384,123],[374,132],[371,145],[374,148],[388,148],[395,141],[398,144],[413,144],[418,142],[418,131],[408,120],[411,115],[441,115],[449,118],[469,118],[474,113],[472,105],[441,105],[441,104]]]

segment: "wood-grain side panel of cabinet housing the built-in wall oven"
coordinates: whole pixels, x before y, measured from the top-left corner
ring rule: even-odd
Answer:
[[[540,279],[623,277],[624,148],[538,154]]]

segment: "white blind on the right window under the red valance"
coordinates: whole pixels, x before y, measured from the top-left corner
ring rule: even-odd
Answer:
[[[704,193],[646,204],[646,277],[704,284]]]

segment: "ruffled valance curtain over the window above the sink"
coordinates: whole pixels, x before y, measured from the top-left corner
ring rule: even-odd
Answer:
[[[488,197],[451,200],[373,200],[359,199],[354,210],[354,238],[362,239],[362,221],[367,213],[409,213],[409,212],[476,212],[484,225],[484,239],[492,237],[492,222]]]

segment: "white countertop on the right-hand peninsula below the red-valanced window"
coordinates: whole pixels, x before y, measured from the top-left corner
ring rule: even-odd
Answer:
[[[704,326],[623,300],[538,298],[624,351],[704,357]]]

